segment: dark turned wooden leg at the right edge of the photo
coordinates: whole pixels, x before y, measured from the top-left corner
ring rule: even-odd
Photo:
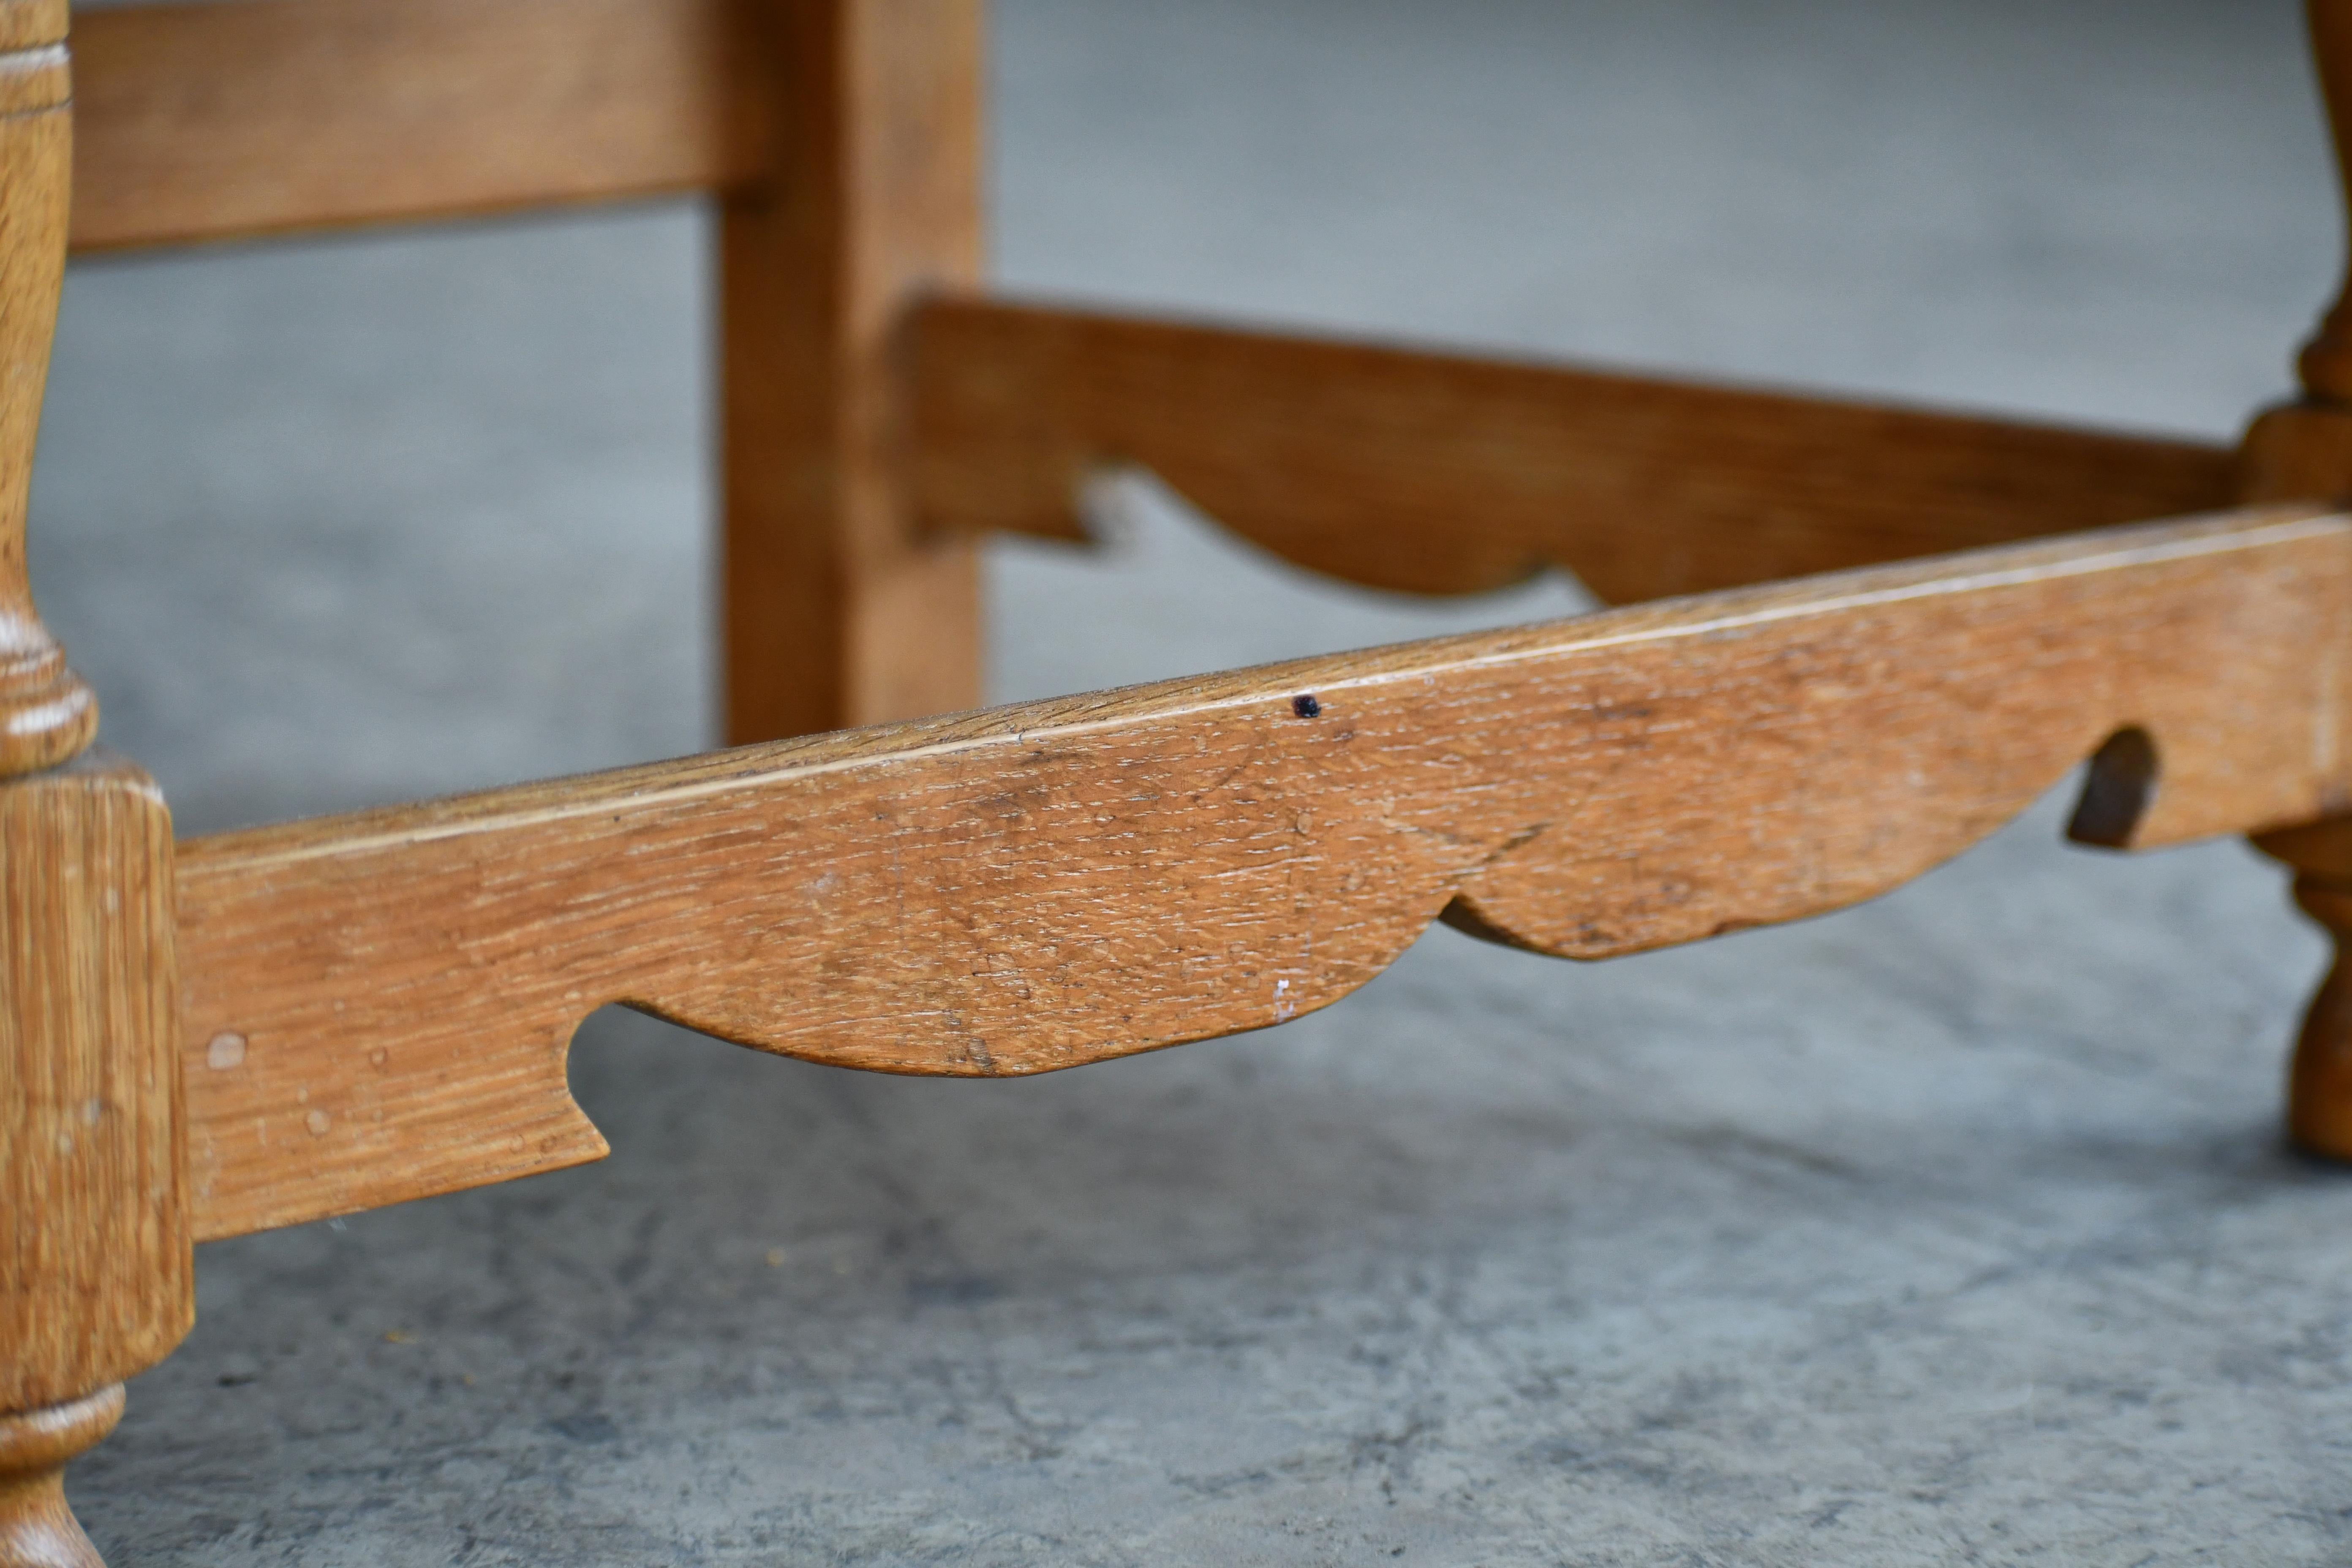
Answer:
[[[2352,193],[2352,0],[2307,9],[2336,169]],[[2303,400],[2263,411],[2239,447],[2246,501],[2352,498],[2352,240],[2345,256],[2336,303],[2296,360]],[[2352,816],[2267,832],[2256,846],[2296,870],[2296,905],[2336,943],[2286,1072],[2286,1131],[2314,1154],[2352,1159]]]

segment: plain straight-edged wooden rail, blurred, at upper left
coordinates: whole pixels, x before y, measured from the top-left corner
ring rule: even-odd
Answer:
[[[230,0],[75,28],[75,249],[727,186],[731,0]]]

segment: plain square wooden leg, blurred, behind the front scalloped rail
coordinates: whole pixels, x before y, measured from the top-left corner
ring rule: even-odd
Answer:
[[[978,0],[743,0],[769,179],[720,219],[729,743],[971,708],[978,569],[920,538],[894,327],[978,273]]]

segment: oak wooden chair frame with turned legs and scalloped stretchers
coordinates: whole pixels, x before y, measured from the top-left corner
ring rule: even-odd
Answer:
[[[2352,150],[2352,0],[2312,24]],[[68,66],[64,0],[0,0],[0,1563],[96,1561],[61,1469],[193,1241],[600,1157],[609,1001],[1044,1072],[1430,919],[1599,959],[1835,910],[2086,757],[2072,837],[2263,835],[2352,931],[2352,306],[2234,451],[1021,306],[978,52],[976,0],[238,0]],[[68,249],[687,188],[741,750],[174,844],[24,578]],[[978,691],[971,541],[1080,536],[1105,461],[1348,581],[1663,602],[922,717]],[[2288,1124],[2352,1157],[2343,969]]]

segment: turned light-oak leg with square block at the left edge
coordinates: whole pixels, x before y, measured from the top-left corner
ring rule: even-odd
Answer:
[[[0,0],[0,1566],[96,1563],[64,1467],[195,1314],[172,818],[33,611],[24,522],[66,268],[66,0]]]

